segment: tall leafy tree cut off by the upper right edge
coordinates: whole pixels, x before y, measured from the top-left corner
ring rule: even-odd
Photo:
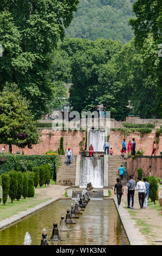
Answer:
[[[150,112],[161,118],[162,58],[158,56],[158,45],[162,41],[161,0],[138,0],[133,5],[133,11],[136,19],[130,19],[129,23],[134,29],[135,46],[141,49],[144,69],[148,74],[145,85],[154,88],[155,96],[152,99],[153,108]]]

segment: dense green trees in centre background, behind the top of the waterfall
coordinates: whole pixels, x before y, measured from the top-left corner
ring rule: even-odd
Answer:
[[[122,45],[111,39],[66,38],[58,46],[56,56],[61,58],[54,58],[53,74],[59,81],[72,81],[70,103],[75,111],[95,111],[103,104],[116,120],[124,120],[130,111],[152,118],[155,87],[148,83],[147,55],[157,56],[152,40],[141,51],[134,41]]]

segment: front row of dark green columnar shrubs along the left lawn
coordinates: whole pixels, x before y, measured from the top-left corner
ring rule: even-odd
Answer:
[[[19,200],[21,196],[23,196],[24,199],[26,199],[26,197],[34,197],[34,180],[30,172],[27,174],[11,170],[8,173],[3,173],[0,177],[2,181],[2,201],[4,205],[7,202],[8,196],[11,199],[11,203],[13,203],[14,199]]]

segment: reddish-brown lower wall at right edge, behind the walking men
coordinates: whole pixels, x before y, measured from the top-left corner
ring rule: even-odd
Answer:
[[[145,176],[154,175],[162,179],[162,157],[161,156],[136,156],[127,159],[127,173],[128,176],[134,174],[138,178],[137,169],[142,168]]]

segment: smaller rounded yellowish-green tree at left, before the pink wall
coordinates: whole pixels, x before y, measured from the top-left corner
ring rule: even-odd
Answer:
[[[20,94],[16,84],[7,84],[0,94],[0,144],[32,148],[40,142],[40,133],[29,108],[29,102]],[[25,133],[26,136],[23,137]],[[17,135],[21,135],[20,136]]]

